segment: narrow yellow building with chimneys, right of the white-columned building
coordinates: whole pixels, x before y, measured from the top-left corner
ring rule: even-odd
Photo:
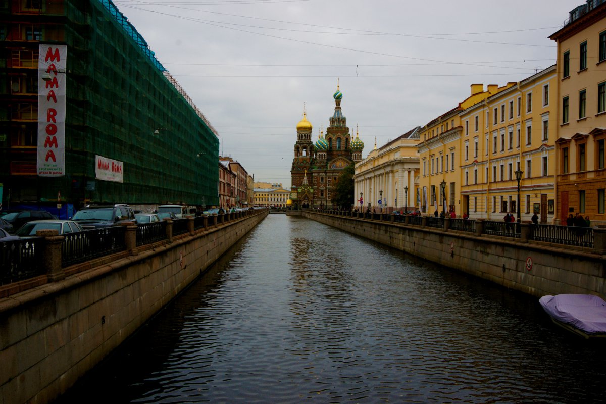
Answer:
[[[445,210],[461,216],[460,165],[466,156],[461,154],[464,147],[461,142],[463,134],[469,133],[470,125],[475,130],[476,122],[466,121],[462,125],[460,114],[513,85],[488,85],[487,91],[484,91],[483,84],[472,84],[467,99],[421,128],[422,142],[417,145],[420,162],[418,204],[421,213],[433,214]]]

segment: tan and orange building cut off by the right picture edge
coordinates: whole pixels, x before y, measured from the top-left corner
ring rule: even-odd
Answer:
[[[574,8],[550,38],[558,44],[556,222],[578,212],[604,223],[606,2]]]

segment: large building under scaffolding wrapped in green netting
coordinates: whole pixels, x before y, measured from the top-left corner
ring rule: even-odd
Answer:
[[[218,133],[111,1],[0,2],[0,40],[3,208],[218,204]],[[63,68],[39,68],[45,46],[64,47]],[[48,71],[64,77],[66,91],[58,176],[40,170],[40,149],[56,145],[55,136],[39,141],[39,122],[55,121],[55,113],[39,111]],[[119,175],[99,173],[108,162]]]

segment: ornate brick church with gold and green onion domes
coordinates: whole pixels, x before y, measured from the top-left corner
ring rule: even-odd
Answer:
[[[339,174],[352,163],[362,160],[364,143],[359,138],[353,139],[353,133],[347,127],[347,118],[341,110],[343,93],[333,94],[335,112],[329,118],[326,134],[319,130],[315,144],[311,139],[313,127],[307,120],[305,108],[303,119],[297,124],[297,141],[295,157],[290,170],[291,202],[293,208],[333,207],[332,189],[336,187]]]

